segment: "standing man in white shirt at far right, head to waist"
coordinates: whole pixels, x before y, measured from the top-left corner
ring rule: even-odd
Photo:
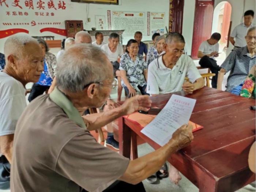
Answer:
[[[252,27],[252,20],[254,18],[254,11],[248,10],[244,12],[244,23],[239,24],[234,28],[230,34],[229,41],[234,45],[234,49],[246,46],[245,36],[248,27]],[[234,40],[236,38],[236,41]]]

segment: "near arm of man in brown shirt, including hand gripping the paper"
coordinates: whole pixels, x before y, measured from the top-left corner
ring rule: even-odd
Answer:
[[[128,168],[119,180],[137,184],[157,172],[167,158],[193,140],[192,126],[182,125],[173,133],[172,139],[163,147],[129,162]],[[181,144],[182,143],[182,144]]]

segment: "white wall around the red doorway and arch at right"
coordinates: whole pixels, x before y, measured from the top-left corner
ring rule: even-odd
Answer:
[[[215,0],[214,8],[222,1],[224,0]],[[240,20],[243,16],[244,0],[225,0],[225,1],[228,1],[232,7],[232,11],[231,11],[231,21],[232,21],[231,31],[232,31],[235,26],[240,24]],[[255,6],[256,6],[255,0],[245,0],[244,11],[246,10],[255,11]],[[189,55],[191,54],[191,47],[192,47],[194,17],[195,17],[195,0],[185,0],[182,33],[186,41],[187,53]],[[255,23],[255,19],[253,20],[253,23]],[[231,49],[233,49],[233,45],[229,46],[227,50],[227,55],[229,54]]]

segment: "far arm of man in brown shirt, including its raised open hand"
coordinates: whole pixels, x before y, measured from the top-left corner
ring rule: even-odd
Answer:
[[[123,105],[102,113],[93,113],[83,116],[88,131],[103,127],[118,117],[131,114],[138,110],[148,111],[151,107],[151,100],[148,95],[137,95],[127,99]]]

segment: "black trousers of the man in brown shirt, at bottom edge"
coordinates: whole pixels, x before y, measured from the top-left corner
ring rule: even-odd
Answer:
[[[85,189],[82,189],[81,192],[87,192]],[[116,181],[103,192],[146,192],[142,182],[137,185],[132,185],[124,181]]]

